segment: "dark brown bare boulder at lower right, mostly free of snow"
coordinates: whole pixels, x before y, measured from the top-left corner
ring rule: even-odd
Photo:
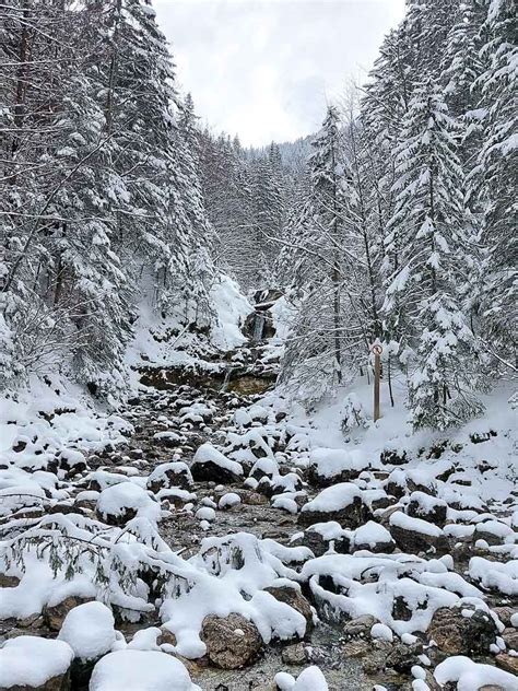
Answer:
[[[448,655],[487,655],[498,635],[496,624],[486,612],[478,609],[471,617],[463,608],[442,607],[429,624],[428,637]]]

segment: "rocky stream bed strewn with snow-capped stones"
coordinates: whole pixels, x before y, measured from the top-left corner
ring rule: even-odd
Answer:
[[[214,590],[201,622],[201,648],[192,647],[184,642],[185,622],[175,618],[175,602],[189,589],[168,592],[167,600],[157,585],[160,566],[152,577],[139,566],[133,595],[152,605],[137,616],[128,602],[110,599],[106,587],[83,586],[60,586],[59,597],[49,586],[42,611],[21,616],[16,592],[23,598],[34,562],[19,554],[0,574],[3,640],[62,639],[69,612],[101,599],[115,613],[118,644],[91,659],[75,652],[71,668],[39,686],[2,688],[87,689],[97,659],[118,647],[177,657],[203,691],[294,688],[290,680],[275,683],[275,675],[296,677],[308,665],[320,668],[331,691],[518,689],[510,681],[518,671],[517,492],[504,501],[474,499],[473,484],[495,468],[487,461],[468,473],[462,449],[447,442],[423,448],[420,458],[385,449],[366,461],[354,452],[313,449],[308,430],[290,422],[282,400],[260,401],[274,380],[274,364],[264,366],[248,349],[237,365],[233,358],[215,373],[143,367],[143,386],[120,413],[132,425],[126,441],[84,454],[78,444],[47,454],[45,467],[27,464],[23,471],[45,491],[33,500],[25,492],[3,511],[1,531],[20,547],[25,530],[43,536],[42,519],[56,530],[48,519],[60,516],[61,525],[69,517],[78,530],[92,529],[94,541],[104,530],[117,542],[128,526],[152,516],[164,541],[161,548],[155,540],[153,549],[173,550],[178,563],[192,564],[204,577],[226,578],[239,605],[216,601],[225,593]],[[231,377],[225,366],[233,367]],[[492,438],[488,433],[470,443],[490,447]],[[31,446],[17,444],[23,468]],[[11,470],[4,465],[2,472]],[[13,501],[9,487],[4,481],[4,503]],[[22,540],[23,549],[27,544]],[[272,620],[266,635],[259,614],[255,619],[256,610],[248,609],[256,600],[259,612],[281,602],[285,609],[278,616],[286,625]],[[461,686],[468,663],[461,672],[434,677],[454,657],[479,664],[480,687]],[[494,682],[486,667],[497,670]],[[111,691],[109,684],[90,688]]]

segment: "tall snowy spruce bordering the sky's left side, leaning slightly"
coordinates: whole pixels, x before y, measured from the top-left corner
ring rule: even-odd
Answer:
[[[207,277],[190,262],[199,266],[207,220],[176,121],[181,105],[166,40],[145,0],[110,0],[103,16],[106,131],[128,190],[118,210],[118,251],[158,313],[204,325],[205,309],[193,304],[208,304]]]

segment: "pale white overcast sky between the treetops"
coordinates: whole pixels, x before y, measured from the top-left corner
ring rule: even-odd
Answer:
[[[318,129],[363,81],[404,0],[155,0],[178,81],[198,115],[246,145]]]

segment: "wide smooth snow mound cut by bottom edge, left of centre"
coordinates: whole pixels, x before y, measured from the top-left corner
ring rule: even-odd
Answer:
[[[94,667],[90,691],[199,691],[186,667],[157,651],[117,651]]]

